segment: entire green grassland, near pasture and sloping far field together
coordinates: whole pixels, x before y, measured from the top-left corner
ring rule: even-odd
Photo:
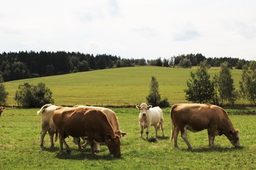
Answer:
[[[0,118],[0,169],[256,169],[256,116],[236,115],[255,108],[227,108],[233,125],[240,130],[241,148],[233,147],[225,136],[215,137],[216,147],[208,148],[206,130],[188,132],[193,150],[187,149],[180,135],[179,149],[174,148],[174,142],[169,141],[170,108],[163,108],[165,137],[159,137],[159,142],[146,141],[146,134],[140,138],[139,111],[135,105],[146,101],[151,76],[159,82],[161,98],[169,98],[171,104],[185,103],[183,89],[190,78],[189,72],[195,69],[129,67],[5,82],[8,106],[16,106],[15,91],[18,84],[25,82],[45,83],[53,91],[56,105],[114,106],[112,110],[117,113],[121,130],[128,135],[121,138],[121,158],[110,157],[105,145],[101,145],[97,155],[91,155],[89,147],[78,151],[72,137],[66,140],[72,152],[60,154],[59,142],[50,149],[48,135],[45,147],[39,146],[41,115],[36,115],[39,108],[6,108]],[[208,72],[213,76],[219,69],[211,67]],[[231,72],[238,89],[242,71]],[[240,99],[236,104],[248,103]],[[149,137],[154,137],[154,128],[150,129]]]

